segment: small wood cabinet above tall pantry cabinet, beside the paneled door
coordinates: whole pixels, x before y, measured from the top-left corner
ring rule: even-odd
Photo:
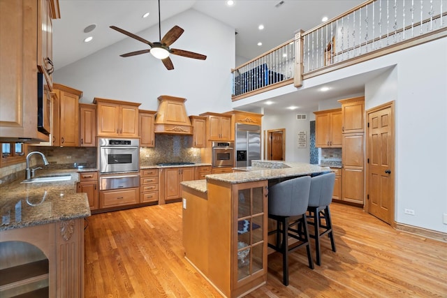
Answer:
[[[356,97],[338,101],[342,103],[342,132],[365,132],[365,98]]]

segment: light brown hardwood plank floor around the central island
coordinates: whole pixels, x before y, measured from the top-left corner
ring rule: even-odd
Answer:
[[[390,228],[361,209],[331,204],[337,252],[322,265],[305,249],[268,257],[267,284],[246,297],[447,297],[447,244]],[[85,230],[85,297],[221,297],[184,258],[182,203],[96,214]],[[314,253],[314,251],[313,251]]]

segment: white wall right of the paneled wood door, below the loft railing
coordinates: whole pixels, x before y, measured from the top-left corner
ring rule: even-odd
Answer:
[[[365,85],[367,109],[395,100],[395,220],[447,232],[447,38],[388,55]],[[404,214],[413,209],[415,215]]]

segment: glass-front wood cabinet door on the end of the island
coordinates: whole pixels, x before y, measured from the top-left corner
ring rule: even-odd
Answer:
[[[233,288],[267,274],[267,185],[233,186]]]

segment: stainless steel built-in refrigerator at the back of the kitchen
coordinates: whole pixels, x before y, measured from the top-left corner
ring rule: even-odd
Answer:
[[[236,124],[236,167],[250,167],[261,159],[261,126]]]

